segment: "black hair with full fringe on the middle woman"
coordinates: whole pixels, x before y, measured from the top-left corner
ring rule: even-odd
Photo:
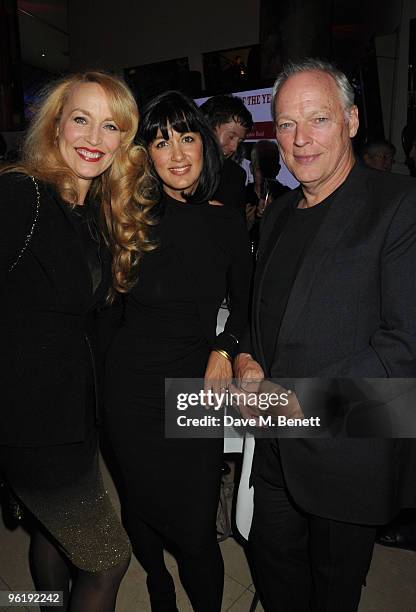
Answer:
[[[169,139],[168,128],[179,132],[198,132],[203,146],[203,165],[193,194],[182,193],[191,204],[201,204],[215,193],[220,180],[221,153],[217,139],[195,102],[180,91],[166,91],[151,100],[143,109],[138,138],[149,148],[158,130]],[[159,177],[157,177],[159,178]],[[162,187],[159,179],[160,187]]]

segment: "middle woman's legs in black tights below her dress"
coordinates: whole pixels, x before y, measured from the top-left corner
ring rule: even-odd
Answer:
[[[125,527],[133,552],[147,572],[152,612],[177,612],[175,585],[163,557],[163,536],[137,517],[126,517]],[[195,612],[220,612],[224,564],[215,534],[198,544],[190,533],[188,543],[181,541],[176,549],[179,576]]]

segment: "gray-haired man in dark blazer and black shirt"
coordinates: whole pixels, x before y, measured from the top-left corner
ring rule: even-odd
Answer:
[[[266,209],[237,378],[302,378],[303,409],[337,381],[416,377],[416,184],[355,163],[353,90],[330,64],[287,66],[272,109],[301,186]],[[356,611],[376,526],[416,504],[415,466],[413,440],[256,440],[249,543],[266,612]]]

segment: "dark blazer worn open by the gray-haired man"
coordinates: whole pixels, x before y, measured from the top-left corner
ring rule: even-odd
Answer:
[[[273,363],[264,363],[262,283],[298,198],[298,191],[283,196],[264,217],[251,327],[255,358],[277,378],[416,378],[416,182],[358,165],[334,195],[293,284]],[[267,441],[256,445],[254,473],[261,470],[262,444]],[[415,445],[279,441],[285,481],[302,509],[374,524],[416,505]]]

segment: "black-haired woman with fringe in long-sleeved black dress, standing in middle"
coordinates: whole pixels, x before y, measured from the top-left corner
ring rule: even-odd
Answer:
[[[247,319],[248,237],[238,213],[210,202],[220,154],[191,100],[179,92],[158,96],[144,111],[139,137],[157,179],[157,246],[143,256],[123,246],[131,267],[116,287],[128,295],[107,362],[108,432],[122,477],[124,523],[148,574],[152,610],[177,610],[166,546],[193,608],[219,612],[223,562],[215,520],[223,441],[165,438],[164,380],[205,377],[215,390],[230,383]],[[216,337],[227,291],[231,314]]]

